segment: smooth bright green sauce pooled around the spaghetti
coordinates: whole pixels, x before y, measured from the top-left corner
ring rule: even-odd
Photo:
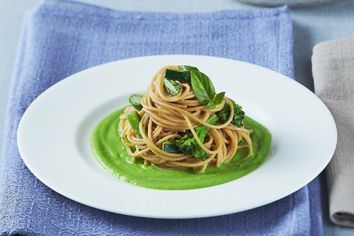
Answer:
[[[229,163],[220,167],[210,166],[204,174],[188,170],[160,169],[144,166],[142,161],[132,162],[118,132],[119,116],[123,109],[105,117],[95,128],[91,148],[98,160],[115,176],[139,186],[153,189],[196,189],[223,184],[244,176],[259,167],[270,151],[271,134],[261,124],[249,117],[245,126],[251,128],[254,155],[243,162],[237,160],[247,155],[247,148],[237,151]]]

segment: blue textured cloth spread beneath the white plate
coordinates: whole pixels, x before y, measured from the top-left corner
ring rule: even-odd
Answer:
[[[290,17],[286,8],[174,14],[112,11],[67,1],[40,5],[25,18],[13,81],[0,164],[0,234],[322,234],[317,179],[284,199],[246,212],[159,220],[73,202],[28,171],[17,150],[16,130],[41,92],[87,67],[155,54],[222,56],[293,77]]]

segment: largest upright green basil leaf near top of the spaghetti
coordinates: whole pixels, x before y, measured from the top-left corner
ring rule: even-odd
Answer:
[[[208,76],[200,71],[191,70],[190,73],[194,95],[201,104],[208,104],[215,96],[213,83]]]

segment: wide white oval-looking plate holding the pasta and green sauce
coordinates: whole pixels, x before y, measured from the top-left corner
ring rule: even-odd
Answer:
[[[130,94],[146,90],[153,74],[169,64],[197,66],[217,91],[268,127],[272,153],[262,166],[226,184],[166,191],[125,183],[96,161],[89,147],[95,125],[126,105]],[[29,106],[17,136],[27,167],[54,191],[91,207],[154,218],[223,215],[278,200],[325,168],[336,140],[330,112],[299,83],[245,62],[188,55],[133,58],[74,74]]]

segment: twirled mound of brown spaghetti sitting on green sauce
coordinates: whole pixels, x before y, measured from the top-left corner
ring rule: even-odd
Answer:
[[[171,95],[166,87],[167,70],[180,72],[176,66],[161,68],[141,97],[141,109],[128,106],[120,116],[119,132],[133,161],[142,158],[144,164],[203,173],[209,165],[220,166],[232,160],[240,148],[248,148],[246,158],[252,155],[251,130],[233,122],[237,115],[235,103],[224,96],[214,106],[202,104],[193,78],[192,83],[176,81],[180,89]],[[138,114],[135,127],[129,119],[131,112]],[[227,117],[219,119],[225,114]]]

